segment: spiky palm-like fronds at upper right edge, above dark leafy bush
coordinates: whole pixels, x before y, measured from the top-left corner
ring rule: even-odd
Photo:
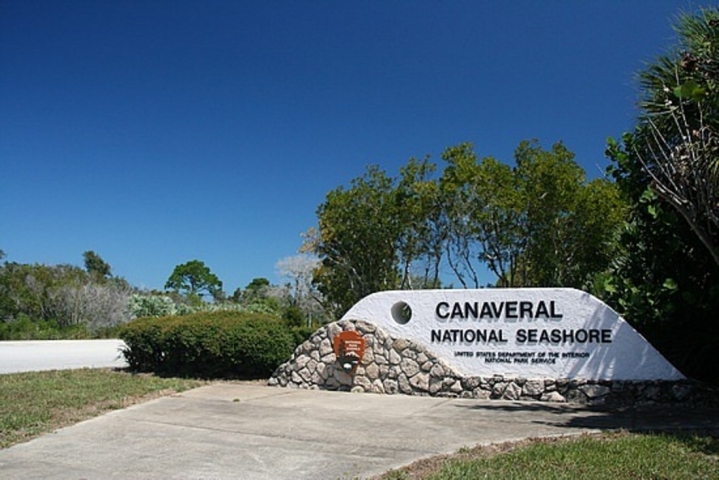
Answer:
[[[635,154],[719,265],[719,9],[682,15],[679,45],[640,73]]]

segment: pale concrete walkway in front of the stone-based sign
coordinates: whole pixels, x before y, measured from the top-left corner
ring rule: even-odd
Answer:
[[[0,450],[23,479],[365,478],[463,446],[606,428],[719,428],[698,409],[567,405],[217,384]]]

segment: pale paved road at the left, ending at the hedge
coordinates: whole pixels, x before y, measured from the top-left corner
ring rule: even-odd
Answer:
[[[125,367],[122,340],[0,342],[0,374],[69,368]]]

